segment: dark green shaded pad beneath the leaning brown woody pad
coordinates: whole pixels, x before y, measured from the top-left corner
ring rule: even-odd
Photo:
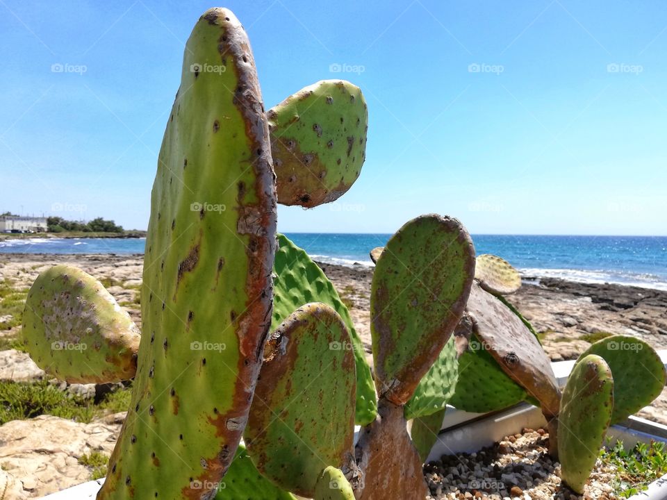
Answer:
[[[509,408],[525,401],[527,396],[472,335],[468,350],[459,358],[459,379],[450,405],[463,411],[486,413]]]

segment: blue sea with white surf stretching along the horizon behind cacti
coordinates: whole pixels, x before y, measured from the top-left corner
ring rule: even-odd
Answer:
[[[368,251],[389,234],[288,233],[315,260],[372,266]],[[495,253],[525,276],[667,290],[667,237],[473,235],[477,254]],[[0,253],[143,253],[145,239],[0,240]]]

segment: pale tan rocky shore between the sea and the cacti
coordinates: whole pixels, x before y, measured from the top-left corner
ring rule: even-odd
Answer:
[[[142,260],[140,255],[1,254],[0,383],[37,381],[45,376],[26,353],[12,349],[12,340],[20,335],[19,318],[13,315],[19,315],[22,308],[15,305],[8,313],[3,308],[6,299],[20,298],[47,267],[74,265],[100,279],[140,324]],[[349,307],[370,353],[372,268],[326,263],[320,267]],[[532,322],[552,360],[575,359],[591,342],[617,333],[635,335],[656,349],[667,349],[667,292],[525,276],[522,288],[508,299]],[[95,393],[94,387],[68,390]],[[667,391],[639,415],[667,424]],[[85,481],[90,467],[81,463],[81,457],[93,452],[108,456],[123,418],[124,413],[110,412],[90,423],[77,423],[43,415],[0,426],[0,490],[3,476],[23,485],[19,488],[23,496],[17,493],[15,498],[41,497]]]

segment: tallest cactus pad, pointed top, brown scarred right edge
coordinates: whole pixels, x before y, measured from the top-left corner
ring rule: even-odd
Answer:
[[[270,326],[269,148],[247,35],[208,10],[158,158],[138,373],[100,500],[208,498],[234,457]]]

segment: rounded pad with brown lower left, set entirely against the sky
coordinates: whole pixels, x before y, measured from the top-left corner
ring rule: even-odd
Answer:
[[[315,207],[354,184],[365,160],[368,109],[356,85],[324,80],[266,114],[278,201]]]

